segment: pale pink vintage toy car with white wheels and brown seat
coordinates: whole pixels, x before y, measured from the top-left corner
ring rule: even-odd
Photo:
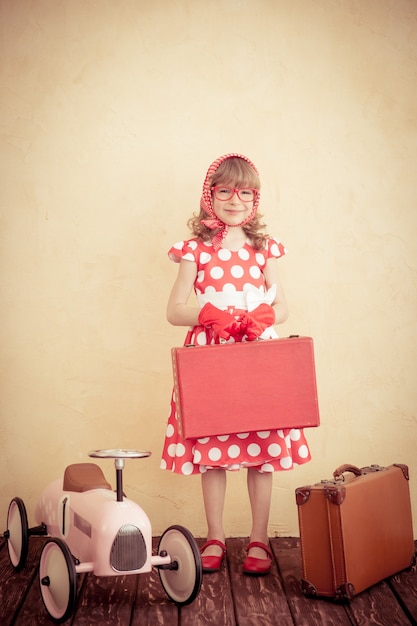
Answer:
[[[34,528],[28,528],[23,501],[14,498],[7,514],[4,537],[10,561],[22,569],[30,535],[50,535],[39,566],[42,599],[56,622],[72,615],[76,605],[76,575],[141,574],[158,568],[162,586],[171,600],[189,604],[202,581],[201,557],[194,537],[182,526],[170,526],[152,555],[152,529],[148,516],[124,497],[122,472],[125,459],[143,458],[139,450],[94,450],[90,457],[113,458],[116,492],[95,463],[69,465],[42,493],[35,511]]]

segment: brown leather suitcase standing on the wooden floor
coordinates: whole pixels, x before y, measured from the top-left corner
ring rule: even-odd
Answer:
[[[342,465],[333,477],[296,489],[302,589],[350,600],[415,561],[408,467]]]

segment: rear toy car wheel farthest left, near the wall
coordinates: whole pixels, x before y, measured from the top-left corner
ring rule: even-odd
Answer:
[[[13,498],[9,504],[4,536],[7,538],[10,561],[18,572],[26,563],[29,548],[28,518],[21,498]]]

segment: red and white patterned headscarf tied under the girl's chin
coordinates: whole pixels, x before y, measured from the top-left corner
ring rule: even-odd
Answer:
[[[256,169],[255,165],[252,163],[250,159],[248,159],[248,157],[245,157],[243,154],[237,154],[234,152],[230,154],[225,154],[219,157],[218,159],[213,161],[213,163],[210,165],[206,174],[206,178],[204,180],[204,184],[203,184],[203,193],[202,193],[201,200],[200,200],[200,207],[209,216],[208,219],[203,219],[201,220],[201,222],[205,224],[208,228],[211,228],[213,230],[215,230],[216,228],[220,229],[219,232],[216,233],[212,239],[212,244],[215,250],[218,250],[220,246],[222,245],[224,238],[227,235],[228,226],[227,224],[219,220],[219,218],[217,217],[213,209],[213,201],[212,201],[212,193],[211,193],[212,177],[213,177],[214,172],[219,167],[219,165],[221,165],[221,163],[223,163],[227,159],[232,159],[232,158],[243,159],[244,161],[249,163],[249,165],[252,167],[254,172],[259,175],[259,172]],[[243,220],[243,222],[241,222],[239,226],[243,226],[244,224],[247,224],[248,222],[253,220],[253,218],[256,215],[256,211],[258,210],[259,199],[260,199],[260,194],[258,191],[258,193],[256,194],[256,198],[253,202],[253,208],[252,208],[250,215],[248,215],[248,217],[245,220]]]

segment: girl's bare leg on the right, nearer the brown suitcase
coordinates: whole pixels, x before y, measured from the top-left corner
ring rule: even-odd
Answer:
[[[268,521],[271,508],[272,472],[259,472],[256,468],[248,469],[248,493],[252,511],[251,541],[260,541],[268,545]],[[265,559],[261,548],[251,548],[249,556]]]

